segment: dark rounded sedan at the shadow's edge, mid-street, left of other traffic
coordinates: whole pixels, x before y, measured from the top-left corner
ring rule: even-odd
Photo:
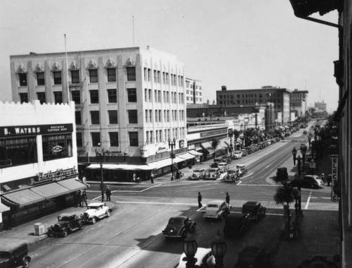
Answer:
[[[193,233],[196,229],[196,222],[189,217],[177,216],[168,221],[168,225],[162,231],[165,238],[186,238],[188,233]]]

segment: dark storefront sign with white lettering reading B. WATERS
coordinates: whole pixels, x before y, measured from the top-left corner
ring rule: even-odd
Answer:
[[[73,124],[0,127],[0,138],[73,132]]]

